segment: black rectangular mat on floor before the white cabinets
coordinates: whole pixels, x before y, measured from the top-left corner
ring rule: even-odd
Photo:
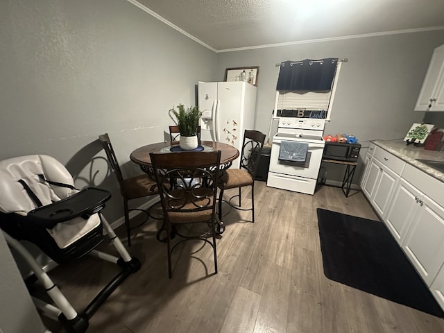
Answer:
[[[318,208],[327,278],[443,317],[444,312],[384,223]]]

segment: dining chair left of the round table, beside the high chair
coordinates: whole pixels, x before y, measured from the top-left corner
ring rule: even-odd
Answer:
[[[110,137],[108,133],[103,135],[99,135],[99,141],[103,146],[103,150],[105,150],[106,157],[108,158],[108,163],[112,172],[117,178],[120,186],[120,193],[123,198],[123,213],[125,215],[125,226],[126,226],[126,236],[128,237],[128,246],[131,246],[131,237],[130,237],[130,211],[139,210],[146,214],[146,222],[148,217],[150,216],[149,210],[141,210],[138,208],[128,209],[128,201],[144,198],[148,196],[158,196],[159,191],[157,191],[157,184],[155,180],[151,179],[147,174],[142,174],[139,176],[133,176],[130,178],[123,178],[121,173],[121,169],[119,167],[119,162],[117,162],[116,154],[114,153],[114,149],[112,148],[112,144],[110,141]],[[153,207],[153,206],[151,206]],[[151,209],[150,207],[150,209]]]

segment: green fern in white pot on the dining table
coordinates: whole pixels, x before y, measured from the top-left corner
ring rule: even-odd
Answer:
[[[198,146],[197,130],[202,112],[197,106],[185,109],[183,104],[179,104],[177,109],[169,110],[169,117],[179,128],[180,148],[186,151],[195,149]]]

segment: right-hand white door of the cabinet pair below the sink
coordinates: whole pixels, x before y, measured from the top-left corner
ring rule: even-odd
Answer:
[[[402,248],[428,286],[444,262],[444,208],[424,196]]]

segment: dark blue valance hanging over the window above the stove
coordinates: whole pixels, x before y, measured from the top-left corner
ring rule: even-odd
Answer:
[[[338,58],[287,60],[280,64],[276,90],[329,92],[337,64]]]

